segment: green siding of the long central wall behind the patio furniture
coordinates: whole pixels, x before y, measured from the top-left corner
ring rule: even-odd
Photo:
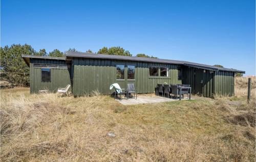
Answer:
[[[98,90],[102,94],[111,94],[110,85],[118,83],[126,89],[132,80],[117,80],[116,65],[135,65],[135,87],[138,93],[154,93],[157,84],[181,84],[178,80],[178,66],[170,64],[131,62],[120,60],[100,60],[75,58],[73,75],[73,94],[75,96],[90,94]],[[150,77],[149,66],[163,66],[168,68],[168,77]],[[125,71],[126,72],[126,71]],[[126,75],[126,74],[125,74]]]

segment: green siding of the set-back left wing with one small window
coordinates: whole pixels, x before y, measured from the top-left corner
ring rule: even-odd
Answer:
[[[30,93],[37,93],[39,90],[49,90],[50,92],[56,92],[58,88],[65,88],[68,84],[71,84],[69,70],[56,68],[51,68],[51,82],[41,82],[41,68],[34,68],[34,63],[66,65],[65,60],[31,59]]]

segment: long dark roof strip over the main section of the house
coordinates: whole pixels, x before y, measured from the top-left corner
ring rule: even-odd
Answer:
[[[72,59],[74,57],[93,58],[93,59],[111,59],[111,60],[129,60],[129,61],[165,63],[165,64],[177,64],[177,65],[185,65],[185,66],[196,67],[196,68],[201,68],[201,69],[206,69],[206,70],[213,70],[213,71],[221,70],[221,71],[232,71],[232,72],[245,73],[245,71],[241,71],[241,70],[221,68],[221,67],[205,65],[205,64],[198,64],[198,63],[187,62],[187,61],[155,59],[155,58],[142,58],[142,57],[132,57],[132,56],[119,56],[119,55],[103,55],[103,54],[96,54],[96,53],[67,51],[66,60]]]

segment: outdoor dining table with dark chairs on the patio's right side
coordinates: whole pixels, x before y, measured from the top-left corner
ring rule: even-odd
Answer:
[[[184,94],[187,94],[187,98],[191,99],[191,87],[190,85],[179,85],[179,84],[157,84],[156,87],[156,95],[159,96],[159,94],[162,94],[162,97],[167,97],[171,96],[171,98],[174,97],[178,98],[181,100],[181,96],[184,98]]]

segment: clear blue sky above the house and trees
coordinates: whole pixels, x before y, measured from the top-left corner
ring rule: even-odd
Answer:
[[[65,51],[121,46],[133,55],[255,75],[255,1],[1,1],[1,46]]]

